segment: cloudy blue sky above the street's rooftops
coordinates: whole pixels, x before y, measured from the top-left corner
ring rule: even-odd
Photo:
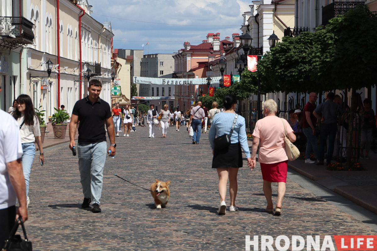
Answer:
[[[88,2],[93,6],[93,18],[101,23],[111,21],[115,49],[143,49],[141,45],[149,42],[149,46],[144,46],[144,54],[171,54],[183,48],[184,41],[200,44],[207,33],[220,32],[221,40],[241,33],[242,14],[250,11],[251,0]]]

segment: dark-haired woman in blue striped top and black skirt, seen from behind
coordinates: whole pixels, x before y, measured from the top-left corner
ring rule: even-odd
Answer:
[[[242,152],[241,148],[247,158],[247,164],[251,166],[251,158],[249,146],[247,144],[247,136],[245,130],[245,118],[238,116],[234,131],[230,137],[230,146],[214,150],[213,141],[215,137],[220,137],[224,134],[230,134],[230,130],[233,124],[233,120],[236,116],[234,112],[236,110],[237,100],[233,94],[226,94],[224,96],[223,113],[218,113],[213,117],[210,133],[208,139],[213,149],[212,168],[217,169],[219,175],[219,194],[220,194],[220,206],[219,214],[225,214],[226,204],[225,195],[227,192],[227,183],[229,178],[229,193],[230,193],[230,207],[229,211],[238,211],[235,205],[237,195],[237,173],[238,168],[242,167]]]

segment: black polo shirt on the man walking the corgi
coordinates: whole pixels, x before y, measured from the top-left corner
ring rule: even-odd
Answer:
[[[72,114],[78,116],[78,143],[92,144],[106,141],[105,121],[111,117],[110,105],[103,99],[92,104],[88,97],[75,103]]]

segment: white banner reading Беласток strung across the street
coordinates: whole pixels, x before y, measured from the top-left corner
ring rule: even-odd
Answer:
[[[221,77],[211,78],[211,84],[219,84]],[[206,78],[144,78],[133,77],[134,84],[152,84],[152,85],[206,85]]]

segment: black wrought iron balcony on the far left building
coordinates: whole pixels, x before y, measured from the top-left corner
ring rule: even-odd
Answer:
[[[15,49],[34,43],[34,24],[25,17],[4,17],[0,20],[0,47]]]

